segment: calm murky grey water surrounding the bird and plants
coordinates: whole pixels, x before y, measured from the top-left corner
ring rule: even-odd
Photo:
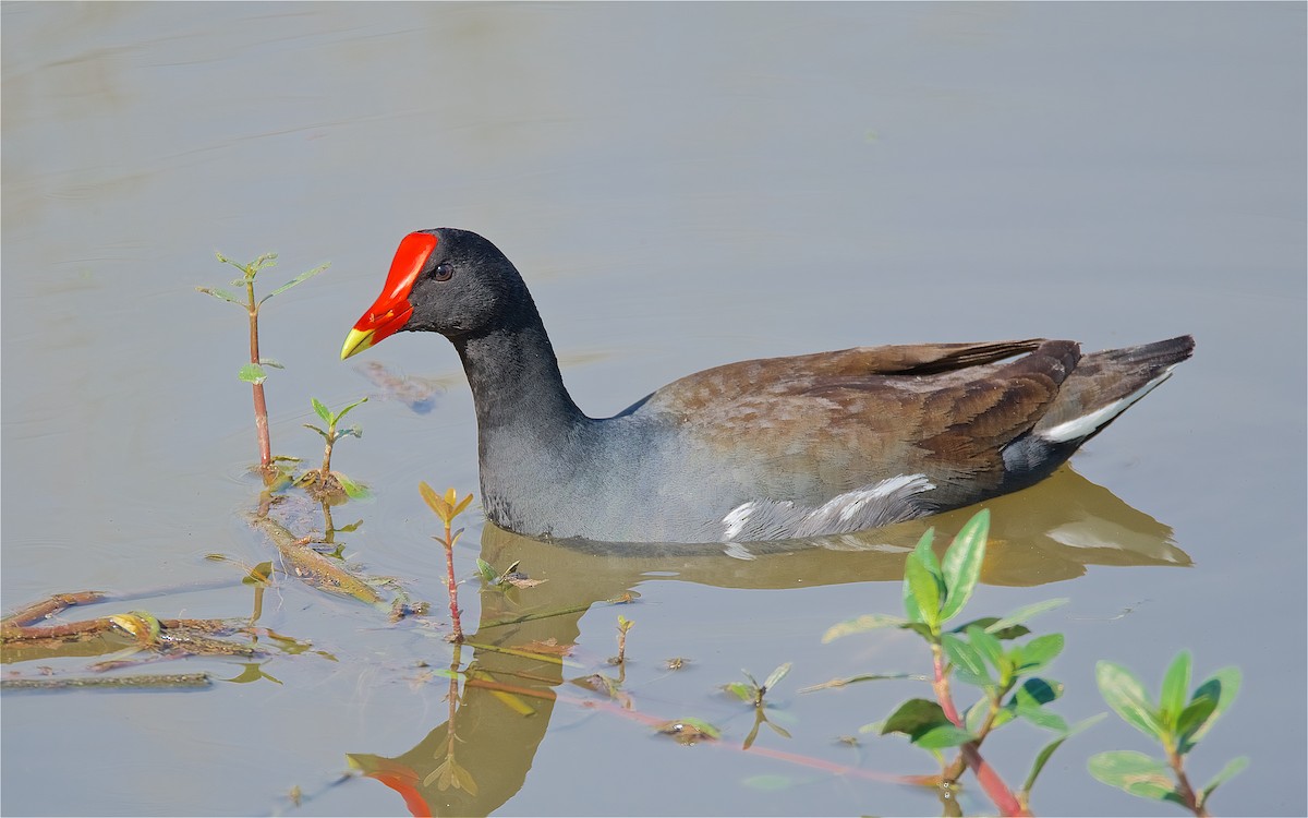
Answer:
[[[337,360],[395,242],[437,225],[515,260],[593,415],[743,357],[1193,332],[1194,360],[1075,471],[990,504],[971,610],[1071,599],[1037,620],[1067,635],[1050,675],[1069,720],[1107,709],[1099,658],[1150,685],[1182,647],[1197,673],[1239,665],[1194,777],[1249,755],[1218,813],[1308,809],[1303,737],[1266,729],[1305,717],[1303,5],[10,3],[3,38],[4,609],[93,588],[118,597],[61,620],[250,615],[241,572],[204,560],[273,555],[243,521],[245,319],[194,288],[233,277],[215,250],[276,250],[266,285],[332,266],[264,313],[263,352],[286,365],[267,385],[273,446],[314,459],[310,397],[377,397],[336,461],[375,500],[336,509],[337,526],[362,520],[339,539],[433,614],[390,624],[283,580],[259,623],[310,650],[275,650],[262,677],[150,667],[256,681],[5,694],[0,811],[268,814],[296,811],[293,788],[309,814],[939,810],[866,777],[930,772],[925,754],[837,742],[925,688],[797,692],[926,667],[899,633],[819,641],[897,610],[923,526],[746,560],[543,546],[472,514],[455,564],[480,647],[458,660],[526,674],[498,678],[535,713],[470,687],[451,717],[433,674],[455,660],[439,524],[417,483],[475,488],[471,399],[438,338],[370,353],[434,381],[416,407]],[[479,593],[479,555],[547,582]],[[630,709],[570,683],[616,677],[619,615],[636,622]],[[562,665],[492,649],[548,640],[576,645]],[[757,746],[807,764],[732,751],[752,713],[717,690],[786,661],[770,716],[791,738],[764,728]],[[726,736],[681,747],[655,717]],[[990,756],[1020,781],[1045,737],[1006,732]],[[1114,747],[1148,750],[1104,722],[1059,750],[1032,806],[1175,814],[1090,779],[1086,759]],[[347,755],[375,779],[340,781]]]

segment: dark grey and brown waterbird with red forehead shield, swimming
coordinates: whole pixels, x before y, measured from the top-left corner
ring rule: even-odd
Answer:
[[[840,534],[1025,488],[1194,349],[1189,335],[1086,356],[1044,339],[859,347],[706,369],[596,419],[568,395],[513,263],[450,228],[404,237],[341,357],[402,330],[439,332],[463,360],[487,517],[608,542]]]

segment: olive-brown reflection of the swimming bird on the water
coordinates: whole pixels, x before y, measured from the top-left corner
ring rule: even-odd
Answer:
[[[1190,564],[1189,556],[1172,544],[1168,526],[1067,467],[1035,488],[999,497],[988,507],[994,527],[981,578],[991,585],[1067,580],[1092,564]],[[565,681],[564,656],[576,647],[581,616],[591,607],[629,599],[627,594],[636,585],[663,577],[718,588],[766,589],[899,581],[906,554],[927,527],[934,526],[938,542],[947,543],[973,512],[964,509],[818,541],[710,546],[538,542],[487,525],[481,563],[521,565],[540,582],[505,593],[505,588],[488,581],[481,593],[479,630],[466,643],[475,658],[462,674],[455,647],[445,724],[399,756],[348,758],[365,776],[399,792],[415,815],[489,814],[522,788],[556,702],[634,719],[651,729],[667,724],[666,716],[654,717],[633,707],[616,679],[596,691],[595,681],[607,679],[596,669],[578,681],[595,691],[590,696],[556,692]],[[539,645],[551,645],[552,654],[539,652]],[[464,679],[462,696],[456,695],[459,675]],[[585,685],[586,679],[591,685]],[[502,698],[505,692],[519,702],[530,699],[531,715],[510,705]],[[751,738],[764,722],[765,717],[756,719]],[[747,739],[746,745],[752,742]],[[846,775],[900,780],[760,746],[748,746],[747,751]]]

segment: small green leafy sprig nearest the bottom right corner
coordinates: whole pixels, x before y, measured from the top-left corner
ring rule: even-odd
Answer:
[[[1176,654],[1163,677],[1163,690],[1155,705],[1134,673],[1116,662],[1099,662],[1095,678],[1104,702],[1126,724],[1163,745],[1167,760],[1160,762],[1134,750],[1112,750],[1092,755],[1087,766],[1090,775],[1104,784],[1141,798],[1180,804],[1202,818],[1209,814],[1207,802],[1213,791],[1243,771],[1249,759],[1243,755],[1232,759],[1207,787],[1194,792],[1185,775],[1185,756],[1235,702],[1240,691],[1240,669],[1218,670],[1186,700],[1190,664],[1189,650]]]

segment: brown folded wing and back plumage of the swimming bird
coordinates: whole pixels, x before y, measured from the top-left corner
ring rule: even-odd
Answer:
[[[777,493],[829,496],[921,472],[954,501],[951,487],[998,486],[999,449],[1040,420],[1078,359],[1074,342],[1040,339],[761,359],[675,381],[640,411],[672,415]]]

